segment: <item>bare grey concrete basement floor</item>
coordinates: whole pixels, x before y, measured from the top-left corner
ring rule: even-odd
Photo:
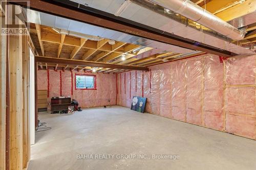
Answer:
[[[255,140],[129,108],[40,114],[39,119],[52,129],[36,133],[28,169],[256,169]],[[78,154],[114,159],[77,159]],[[125,154],[135,158],[119,159]],[[152,159],[157,154],[180,158]]]

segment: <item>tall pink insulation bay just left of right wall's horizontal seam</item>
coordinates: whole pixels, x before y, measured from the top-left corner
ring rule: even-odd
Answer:
[[[204,126],[223,130],[223,63],[218,56],[204,58]]]

